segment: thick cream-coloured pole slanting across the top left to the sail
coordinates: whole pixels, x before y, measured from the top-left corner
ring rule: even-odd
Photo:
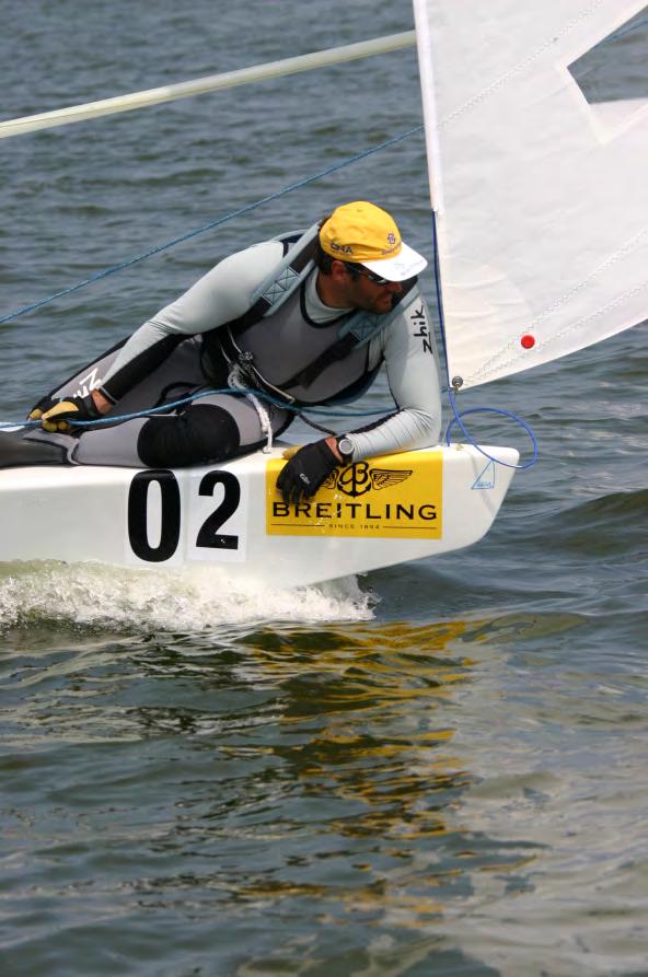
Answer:
[[[284,74],[296,74],[299,71],[326,68],[329,65],[355,61],[372,55],[387,54],[405,47],[412,47],[415,42],[415,32],[404,31],[402,34],[390,34],[384,37],[375,37],[372,40],[345,44],[327,50],[312,51],[309,55],[298,55],[294,58],[255,65],[252,68],[240,68],[236,71],[225,71],[222,74],[208,74],[205,78],[196,78],[193,81],[162,85],[158,89],[148,89],[142,92],[131,92],[129,95],[117,95],[114,98],[102,98],[100,102],[88,102],[84,105],[71,105],[68,108],[57,108],[53,112],[8,119],[4,123],[0,123],[0,139],[10,136],[21,136],[24,132],[33,132],[37,129],[67,126],[71,123],[114,115],[119,112],[148,108],[151,105],[175,102],[178,98],[187,98],[192,95],[202,95],[206,92],[215,92],[219,89],[231,89],[254,81],[265,81],[268,78],[280,78]]]

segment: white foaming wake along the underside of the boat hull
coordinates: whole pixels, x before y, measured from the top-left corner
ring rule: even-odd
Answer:
[[[356,578],[299,590],[228,580],[220,568],[125,570],[93,563],[0,568],[0,628],[44,621],[119,631],[202,631],[257,621],[368,620],[375,597]]]

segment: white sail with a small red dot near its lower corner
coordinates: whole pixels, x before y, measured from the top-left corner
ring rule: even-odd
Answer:
[[[628,30],[645,0],[414,7],[450,377],[475,386],[646,319],[648,31]],[[600,53],[629,97],[588,91]]]

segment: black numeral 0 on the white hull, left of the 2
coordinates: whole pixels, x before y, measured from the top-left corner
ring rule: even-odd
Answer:
[[[161,534],[158,546],[151,546],[148,534],[149,486],[157,481],[162,493]],[[177,549],[180,540],[180,488],[173,472],[138,472],[128,492],[128,538],[140,560],[162,563]]]

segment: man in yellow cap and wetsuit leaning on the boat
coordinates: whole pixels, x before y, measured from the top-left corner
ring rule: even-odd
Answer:
[[[346,203],[302,235],[266,241],[222,260],[144,323],[107,368],[100,364],[105,372],[99,388],[85,397],[60,388],[59,399],[44,398],[30,417],[40,418],[59,442],[69,439],[68,458],[76,464],[222,462],[261,446],[268,429],[284,431],[292,414],[282,405],[351,400],[384,362],[397,410],[349,434],[304,445],[281,470],[277,485],[285,498],[310,497],[337,465],[437,443],[439,375],[416,287],[426,265],[402,242],[389,213],[367,201]],[[213,387],[221,392],[180,410],[77,427],[73,439],[69,433],[69,421],[173,403],[181,393]],[[240,396],[228,387],[250,393]],[[67,433],[55,433],[60,431]]]

